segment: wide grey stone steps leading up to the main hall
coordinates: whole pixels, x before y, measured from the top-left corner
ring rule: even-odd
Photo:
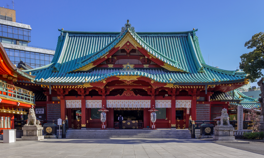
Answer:
[[[191,133],[188,129],[87,129],[76,130],[69,129],[66,133],[66,138],[176,138],[186,139],[191,138]]]

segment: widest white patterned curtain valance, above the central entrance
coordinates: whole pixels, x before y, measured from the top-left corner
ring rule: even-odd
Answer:
[[[107,100],[106,107],[150,108],[150,100]]]

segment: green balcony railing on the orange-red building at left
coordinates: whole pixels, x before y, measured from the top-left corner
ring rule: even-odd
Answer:
[[[34,94],[31,91],[2,81],[0,81],[0,96],[23,102],[34,103]]]

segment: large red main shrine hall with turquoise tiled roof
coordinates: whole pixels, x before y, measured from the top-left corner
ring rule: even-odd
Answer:
[[[59,31],[52,62],[23,72],[46,96],[36,101],[42,120],[67,115],[72,129],[101,128],[101,108],[108,110],[107,128],[119,128],[120,114],[123,128],[151,128],[148,110],[155,108],[157,128],[185,129],[190,116],[212,120],[211,113],[228,108],[210,101],[214,92],[248,82],[244,72],[205,64],[197,29],[135,32],[127,21],[121,32]]]

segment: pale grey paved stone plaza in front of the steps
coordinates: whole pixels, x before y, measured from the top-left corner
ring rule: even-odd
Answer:
[[[249,145],[249,144],[247,144]],[[3,144],[2,157],[263,157],[197,139],[48,139]]]

